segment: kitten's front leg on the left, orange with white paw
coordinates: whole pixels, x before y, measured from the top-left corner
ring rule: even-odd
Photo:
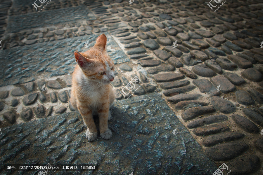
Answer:
[[[88,141],[94,141],[98,136],[98,131],[96,129],[95,122],[93,120],[92,111],[85,108],[78,108],[80,114],[82,115],[84,124],[88,128],[86,130],[86,138]]]

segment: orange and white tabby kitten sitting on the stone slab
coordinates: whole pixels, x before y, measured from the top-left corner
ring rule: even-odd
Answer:
[[[77,65],[72,74],[70,102],[82,115],[89,141],[94,141],[98,135],[92,114],[98,114],[101,137],[108,140],[112,135],[108,120],[109,108],[115,99],[110,85],[114,79],[114,63],[107,54],[106,44],[107,37],[102,34],[91,49],[74,52]]]

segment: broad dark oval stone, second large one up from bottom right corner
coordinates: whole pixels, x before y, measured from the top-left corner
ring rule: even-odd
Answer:
[[[248,145],[243,142],[227,142],[222,143],[205,150],[205,153],[212,160],[231,160],[242,154],[248,149]]]

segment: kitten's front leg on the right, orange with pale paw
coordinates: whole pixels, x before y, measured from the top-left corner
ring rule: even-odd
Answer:
[[[106,140],[110,139],[112,135],[110,129],[108,128],[109,107],[109,104],[104,104],[98,110],[101,137]]]

